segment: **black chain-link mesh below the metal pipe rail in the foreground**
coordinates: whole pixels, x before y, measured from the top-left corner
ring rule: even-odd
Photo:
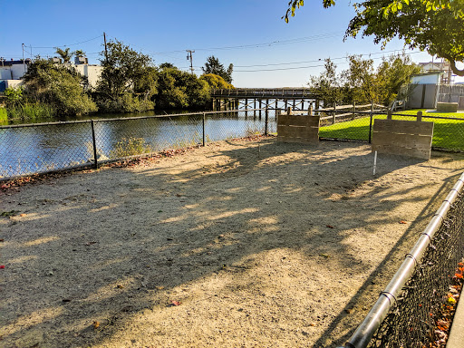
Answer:
[[[459,196],[370,347],[422,348],[439,341],[435,320],[449,304],[451,278],[464,256],[463,216],[464,197]]]

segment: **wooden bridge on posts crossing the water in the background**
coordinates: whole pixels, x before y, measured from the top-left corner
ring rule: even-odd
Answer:
[[[319,109],[320,96],[309,88],[236,88],[211,92],[213,111],[246,109]]]

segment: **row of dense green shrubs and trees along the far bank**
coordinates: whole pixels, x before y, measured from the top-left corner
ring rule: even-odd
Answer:
[[[102,52],[102,77],[95,88],[70,63],[36,59],[24,74],[24,87],[5,91],[9,120],[34,120],[92,112],[202,109],[212,88],[233,88],[221,76],[199,78],[170,63],[154,66],[148,55],[118,40]]]

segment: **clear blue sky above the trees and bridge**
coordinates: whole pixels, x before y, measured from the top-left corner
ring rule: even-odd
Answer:
[[[353,7],[339,0],[324,9],[322,0],[306,0],[289,24],[281,17],[287,0],[82,0],[79,2],[24,0],[2,2],[0,56],[9,60],[40,54],[53,56],[53,47],[82,49],[89,63],[98,63],[103,37],[117,38],[149,54],[155,64],[173,63],[189,70],[186,50],[195,50],[195,73],[201,74],[209,55],[226,67],[235,66],[237,87],[302,87],[332,58],[339,71],[348,54],[366,54],[380,62],[383,55],[403,48],[388,43],[382,52],[372,37],[349,38],[343,33]],[[32,48],[31,48],[32,47]],[[427,53],[411,53],[416,62],[429,62]],[[319,61],[321,60],[321,61]]]

